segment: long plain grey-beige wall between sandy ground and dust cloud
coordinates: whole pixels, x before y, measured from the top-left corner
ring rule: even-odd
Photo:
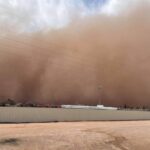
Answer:
[[[0,107],[1,123],[150,120],[150,112],[62,108]]]

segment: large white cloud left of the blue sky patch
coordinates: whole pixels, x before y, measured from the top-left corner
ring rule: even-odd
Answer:
[[[0,0],[0,23],[21,31],[60,28],[84,11],[79,0]]]

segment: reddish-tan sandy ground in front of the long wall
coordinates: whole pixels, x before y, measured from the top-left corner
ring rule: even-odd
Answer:
[[[150,121],[0,124],[0,150],[148,150]]]

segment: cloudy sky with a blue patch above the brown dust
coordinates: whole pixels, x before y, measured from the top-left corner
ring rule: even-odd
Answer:
[[[74,18],[118,15],[139,0],[0,0],[1,26],[18,32],[66,27]]]

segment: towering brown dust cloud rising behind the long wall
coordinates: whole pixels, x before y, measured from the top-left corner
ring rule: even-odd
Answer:
[[[133,4],[57,30],[18,33],[8,25],[0,38],[0,100],[150,106],[150,5]]]

